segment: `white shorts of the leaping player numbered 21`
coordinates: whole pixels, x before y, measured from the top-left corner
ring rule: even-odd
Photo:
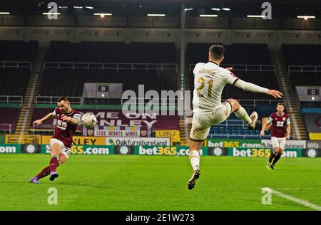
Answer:
[[[231,112],[232,106],[228,102],[222,103],[220,108],[210,112],[194,112],[190,140],[200,142],[205,140],[210,132],[210,127],[228,119]]]

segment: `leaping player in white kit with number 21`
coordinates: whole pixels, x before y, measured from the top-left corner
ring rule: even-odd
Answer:
[[[241,57],[241,56],[240,56]],[[250,129],[255,128],[258,121],[258,113],[248,112],[238,103],[238,100],[229,98],[224,103],[221,102],[221,96],[226,84],[233,85],[255,93],[265,93],[274,98],[282,98],[282,93],[277,90],[262,88],[253,83],[248,83],[237,78],[230,68],[220,67],[224,60],[224,47],[214,45],[210,47],[208,53],[208,63],[197,63],[193,70],[194,73],[194,97],[193,97],[193,125],[190,130],[190,164],[193,168],[192,177],[188,180],[188,189],[195,187],[197,179],[200,177],[200,154],[210,127],[218,125],[226,120],[232,112],[245,121]]]

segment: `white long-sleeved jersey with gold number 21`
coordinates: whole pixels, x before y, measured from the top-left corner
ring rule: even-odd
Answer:
[[[225,85],[233,85],[238,80],[232,72],[213,62],[197,63],[193,73],[193,112],[208,112],[220,108]]]

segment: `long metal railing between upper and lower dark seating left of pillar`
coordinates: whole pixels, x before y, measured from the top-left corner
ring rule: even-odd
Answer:
[[[76,63],[76,62],[45,62],[46,68],[71,68],[71,69],[115,69],[115,70],[175,70],[175,63]]]

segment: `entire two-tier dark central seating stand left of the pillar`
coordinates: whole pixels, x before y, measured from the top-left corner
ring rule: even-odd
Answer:
[[[63,54],[61,54],[63,52]],[[65,62],[65,67],[50,66],[44,70],[39,96],[82,96],[83,83],[123,83],[123,90],[138,93],[138,84],[145,90],[177,90],[174,43],[123,43],[52,41],[47,62]],[[75,69],[66,62],[78,64]],[[125,63],[114,68],[91,68],[86,63]],[[126,63],[130,63],[127,65]],[[138,63],[136,68],[131,63]],[[139,63],[173,63],[170,70],[141,66]],[[86,65],[85,65],[86,64]],[[85,65],[85,67],[79,67]],[[93,64],[91,64],[93,65]],[[96,64],[97,65],[97,64]],[[118,64],[117,64],[118,65]],[[99,64],[102,66],[102,64]],[[114,65],[116,66],[116,64]],[[85,99],[86,104],[114,104],[119,100]]]

